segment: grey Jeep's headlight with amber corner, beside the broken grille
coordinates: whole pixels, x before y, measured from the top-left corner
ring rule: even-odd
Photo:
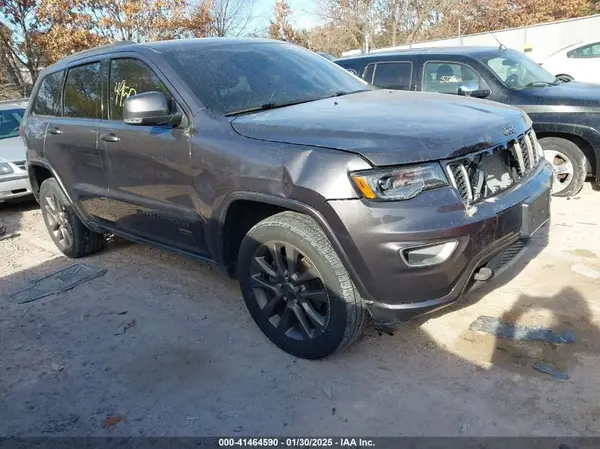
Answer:
[[[448,185],[438,163],[354,172],[350,178],[370,200],[408,200],[424,190]]]

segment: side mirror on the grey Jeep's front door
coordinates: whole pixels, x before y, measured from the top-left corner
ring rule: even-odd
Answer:
[[[133,95],[127,97],[123,103],[123,121],[128,125],[177,126],[181,120],[181,114],[171,114],[167,98],[162,92]]]

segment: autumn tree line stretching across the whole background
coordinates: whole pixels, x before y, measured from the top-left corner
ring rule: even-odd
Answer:
[[[320,25],[294,28],[288,1],[275,0],[268,26],[257,30],[256,0],[0,0],[0,85],[23,92],[46,65],[121,40],[252,35],[340,56],[365,45],[456,36],[459,28],[473,34],[600,9],[600,0],[314,1]]]

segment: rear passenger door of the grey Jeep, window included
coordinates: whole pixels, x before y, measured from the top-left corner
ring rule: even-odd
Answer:
[[[67,70],[62,117],[50,119],[45,156],[68,191],[90,217],[112,220],[108,184],[97,134],[101,117],[100,62]]]

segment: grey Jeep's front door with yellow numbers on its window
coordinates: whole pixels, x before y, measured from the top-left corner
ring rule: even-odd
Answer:
[[[180,109],[167,83],[135,58],[110,61],[108,120],[100,124],[99,145],[105,151],[110,202],[121,231],[198,255],[206,255],[204,221],[196,208],[185,118],[173,127],[125,124],[128,96],[158,91],[173,111]]]

